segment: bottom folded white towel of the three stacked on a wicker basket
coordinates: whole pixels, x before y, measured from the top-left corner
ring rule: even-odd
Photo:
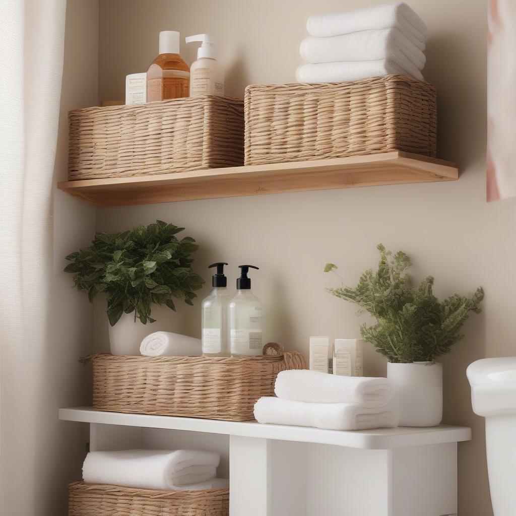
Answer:
[[[306,63],[296,70],[298,83],[347,83],[382,75],[412,75],[418,80],[425,80],[419,70],[410,73],[392,59],[318,63],[317,65]]]

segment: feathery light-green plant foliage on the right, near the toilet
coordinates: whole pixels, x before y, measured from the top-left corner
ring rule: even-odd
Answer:
[[[327,288],[327,292],[350,301],[366,311],[376,323],[360,327],[362,337],[372,343],[390,362],[428,362],[450,351],[464,336],[460,333],[469,312],[481,312],[482,287],[471,296],[455,294],[440,302],[432,294],[434,279],[425,278],[412,286],[407,269],[409,257],[402,251],[393,254],[378,245],[378,270],[362,273],[354,288]],[[325,272],[337,266],[327,264]]]

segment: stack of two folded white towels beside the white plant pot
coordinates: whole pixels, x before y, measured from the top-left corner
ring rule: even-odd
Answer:
[[[308,370],[278,374],[275,397],[254,405],[259,423],[311,426],[326,430],[395,428],[399,414],[386,378],[335,376]]]

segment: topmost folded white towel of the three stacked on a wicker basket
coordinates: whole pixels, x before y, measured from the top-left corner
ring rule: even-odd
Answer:
[[[414,45],[424,50],[427,37],[425,22],[404,2],[315,14],[307,21],[308,33],[318,38],[390,27],[398,28]]]

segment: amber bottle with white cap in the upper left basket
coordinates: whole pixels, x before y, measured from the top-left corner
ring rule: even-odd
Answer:
[[[147,70],[147,102],[189,95],[190,68],[179,55],[179,32],[159,33],[159,56]]]

